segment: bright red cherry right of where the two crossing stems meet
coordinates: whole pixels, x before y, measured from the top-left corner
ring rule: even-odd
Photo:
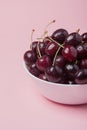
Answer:
[[[62,55],[66,60],[72,62],[77,58],[77,50],[75,47],[67,45],[63,48]]]

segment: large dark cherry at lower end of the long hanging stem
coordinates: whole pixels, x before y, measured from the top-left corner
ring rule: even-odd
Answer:
[[[50,66],[46,69],[45,75],[47,77],[47,80],[50,82],[59,82],[61,80],[61,74],[62,70],[58,69],[56,70],[55,66]]]

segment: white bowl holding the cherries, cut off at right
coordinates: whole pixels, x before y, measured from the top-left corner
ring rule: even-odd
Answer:
[[[39,88],[41,94],[47,99],[69,105],[78,105],[87,103],[87,84],[83,85],[70,85],[58,84],[41,80],[32,75],[26,68],[24,68],[28,75],[31,77],[35,86]]]

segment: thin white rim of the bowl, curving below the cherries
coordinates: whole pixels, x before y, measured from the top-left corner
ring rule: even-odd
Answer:
[[[33,77],[34,79],[40,81],[40,82],[43,82],[43,83],[47,83],[49,85],[55,85],[55,86],[60,86],[60,87],[80,87],[80,86],[87,86],[87,84],[61,84],[61,83],[54,83],[54,82],[49,82],[49,81],[45,81],[45,80],[42,80],[36,76],[34,76],[33,74],[31,74],[28,69],[26,68],[26,64],[25,62],[23,61],[23,68],[25,69],[25,71],[27,72],[28,75],[30,75],[31,77]]]

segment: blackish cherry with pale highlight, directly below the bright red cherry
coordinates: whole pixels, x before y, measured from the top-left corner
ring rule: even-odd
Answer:
[[[79,67],[76,64],[68,63],[65,65],[65,72],[68,76],[68,79],[73,80],[75,78],[75,74],[78,70],[79,70]]]

